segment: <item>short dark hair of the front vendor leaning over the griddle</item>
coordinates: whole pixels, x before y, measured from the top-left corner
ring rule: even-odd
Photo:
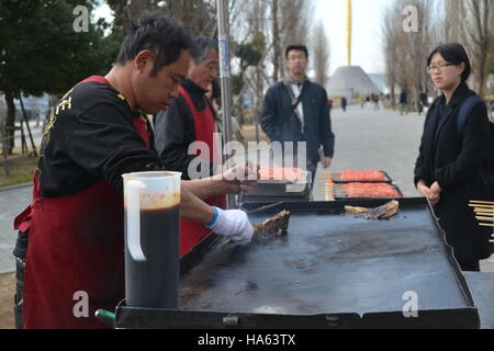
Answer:
[[[162,67],[177,61],[182,50],[193,48],[192,37],[183,25],[160,12],[144,14],[131,25],[130,33],[120,48],[116,64],[134,59],[141,52],[149,49],[155,54],[151,76]]]

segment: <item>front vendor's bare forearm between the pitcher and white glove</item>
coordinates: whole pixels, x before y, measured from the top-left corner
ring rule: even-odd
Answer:
[[[190,182],[181,183],[180,194],[180,216],[183,219],[191,219],[202,224],[211,223],[214,216],[214,210],[195,196],[190,188]],[[193,186],[192,186],[193,188]]]

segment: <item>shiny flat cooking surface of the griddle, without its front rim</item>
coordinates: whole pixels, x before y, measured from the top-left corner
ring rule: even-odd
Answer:
[[[274,212],[250,215],[260,223]],[[180,309],[317,315],[472,307],[427,206],[390,220],[293,211],[289,235],[250,246],[215,245],[181,281]]]

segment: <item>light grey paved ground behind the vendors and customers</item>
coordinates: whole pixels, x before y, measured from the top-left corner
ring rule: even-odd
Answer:
[[[424,115],[400,116],[395,112],[374,112],[360,106],[350,106],[345,114],[341,110],[334,111],[336,151],[332,170],[385,170],[406,197],[418,196],[413,171],[424,120]],[[11,252],[16,234],[12,220],[30,201],[31,186],[0,191],[0,273],[14,269]],[[494,272],[494,259],[482,262],[482,269]]]

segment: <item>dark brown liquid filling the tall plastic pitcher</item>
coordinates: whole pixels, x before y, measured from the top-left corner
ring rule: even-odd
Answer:
[[[141,211],[141,247],[146,260],[134,261],[125,242],[127,306],[177,308],[180,270],[179,240],[179,205]]]

